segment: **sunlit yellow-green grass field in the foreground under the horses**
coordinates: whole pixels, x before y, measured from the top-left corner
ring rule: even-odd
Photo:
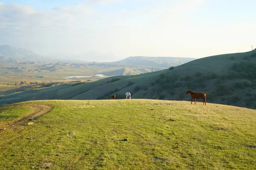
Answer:
[[[3,106],[0,169],[256,169],[256,110],[202,104],[120,99]]]

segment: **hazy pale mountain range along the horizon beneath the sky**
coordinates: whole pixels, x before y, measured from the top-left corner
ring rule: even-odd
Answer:
[[[0,45],[0,62],[35,62],[45,60],[63,61],[77,60],[84,62],[111,62],[112,64],[128,64],[128,65],[147,65],[152,67],[168,68],[172,65],[179,65],[185,62],[195,60],[196,58],[184,57],[143,57],[135,56],[113,62],[116,56],[111,53],[99,53],[97,51],[89,51],[84,54],[56,54],[56,56],[41,56],[31,50],[25,48],[17,48],[10,45]]]

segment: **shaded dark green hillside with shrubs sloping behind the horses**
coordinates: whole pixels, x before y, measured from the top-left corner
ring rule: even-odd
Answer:
[[[256,51],[205,57],[184,65],[134,76],[116,76],[82,85],[32,90],[0,96],[11,104],[38,99],[124,99],[191,100],[186,89],[207,94],[207,102],[256,108]]]

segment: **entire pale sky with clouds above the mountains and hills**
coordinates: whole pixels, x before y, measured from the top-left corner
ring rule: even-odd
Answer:
[[[195,57],[256,48],[256,0],[0,0],[0,45]]]

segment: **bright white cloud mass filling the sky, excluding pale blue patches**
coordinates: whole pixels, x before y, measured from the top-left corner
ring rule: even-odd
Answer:
[[[207,21],[207,25],[193,17],[205,0],[130,0],[131,6],[127,8],[121,6],[125,0],[90,1],[81,0],[81,5],[56,7],[53,11],[2,3],[0,45],[29,48],[40,54],[79,54],[96,50],[118,57],[205,57],[231,50],[233,47],[228,43],[234,45],[237,32],[240,33],[239,45],[251,42],[243,32],[255,30],[254,23],[213,27],[209,24],[211,21]],[[122,8],[105,12],[91,6],[92,3],[119,3]],[[136,8],[139,3],[140,8]],[[225,49],[220,43],[226,43]]]

